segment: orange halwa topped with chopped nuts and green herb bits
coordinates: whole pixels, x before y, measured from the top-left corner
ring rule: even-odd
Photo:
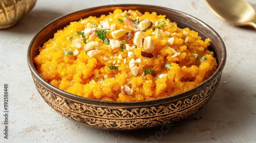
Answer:
[[[215,72],[209,41],[165,15],[117,9],[58,30],[35,62],[42,78],[81,97],[152,100],[194,88]]]

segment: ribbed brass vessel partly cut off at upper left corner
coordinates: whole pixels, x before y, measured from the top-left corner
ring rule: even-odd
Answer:
[[[0,29],[10,28],[34,7],[36,0],[0,0]]]

